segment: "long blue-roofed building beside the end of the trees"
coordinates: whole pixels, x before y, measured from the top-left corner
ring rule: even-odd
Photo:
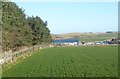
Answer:
[[[79,40],[78,39],[59,39],[59,40],[53,40],[53,45],[78,45]]]

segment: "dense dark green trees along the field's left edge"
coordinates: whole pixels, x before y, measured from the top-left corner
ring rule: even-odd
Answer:
[[[16,50],[21,46],[51,43],[48,22],[39,16],[26,17],[14,2],[2,2],[2,47]]]

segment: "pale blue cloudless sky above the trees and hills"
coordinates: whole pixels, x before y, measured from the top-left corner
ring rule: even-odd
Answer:
[[[28,16],[48,21],[52,34],[118,30],[117,2],[16,2]]]

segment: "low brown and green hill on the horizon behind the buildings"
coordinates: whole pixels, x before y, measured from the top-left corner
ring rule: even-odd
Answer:
[[[52,39],[57,39],[57,38],[62,38],[62,39],[67,39],[67,38],[76,38],[79,39],[80,41],[85,41],[85,42],[94,42],[94,41],[104,41],[104,40],[109,40],[112,38],[117,38],[118,33],[117,32],[111,32],[111,33],[102,33],[102,32],[97,32],[97,33],[66,33],[66,34],[52,34]]]

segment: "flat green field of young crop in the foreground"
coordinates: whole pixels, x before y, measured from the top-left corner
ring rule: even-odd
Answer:
[[[56,47],[37,51],[3,77],[117,77],[117,46]]]

